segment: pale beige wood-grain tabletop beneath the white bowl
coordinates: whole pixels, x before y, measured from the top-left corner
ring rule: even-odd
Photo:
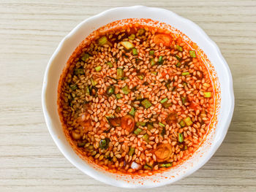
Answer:
[[[233,74],[236,107],[205,166],[173,185],[128,190],[64,158],[45,125],[41,88],[50,55],[72,28],[138,2],[189,18],[217,42]],[[256,1],[1,0],[0,15],[0,191],[256,191]]]

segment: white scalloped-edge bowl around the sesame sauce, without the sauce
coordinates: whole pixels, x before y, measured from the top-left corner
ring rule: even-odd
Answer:
[[[72,55],[76,47],[83,41],[92,31],[105,26],[114,20],[122,20],[126,18],[150,18],[167,23],[186,34],[192,42],[195,42],[204,53],[208,60],[211,61],[215,70],[215,84],[219,86],[219,110],[217,110],[217,120],[214,128],[207,135],[207,139],[200,145],[199,149],[192,158],[189,158],[180,166],[168,170],[160,174],[154,174],[147,177],[130,177],[129,175],[111,174],[105,172],[97,166],[92,166],[83,161],[72,150],[71,145],[67,142],[64,132],[61,128],[61,122],[57,112],[57,87],[62,69],[64,69],[69,56]],[[45,115],[45,121],[53,137],[54,142],[61,150],[61,153],[82,172],[100,180],[103,183],[115,185],[124,188],[153,188],[166,185],[187,177],[211,158],[221,145],[227,133],[230,120],[233,115],[234,96],[233,82],[230,69],[225,59],[219,51],[217,45],[209,39],[206,33],[195,23],[181,18],[173,12],[166,9],[154,7],[118,7],[108,9],[105,12],[95,15],[84,20],[76,26],[68,35],[62,39],[59,47],[53,53],[45,71],[45,78],[42,87],[42,109]]]

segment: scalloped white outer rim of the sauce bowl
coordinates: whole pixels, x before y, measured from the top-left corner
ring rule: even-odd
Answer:
[[[132,12],[132,11],[139,11],[139,10],[141,12],[144,12],[145,10],[147,10],[147,11],[150,10],[151,12],[162,12],[162,14],[165,14],[168,17],[173,17],[173,18],[176,18],[176,20],[178,20],[179,22],[186,23],[190,28],[193,28],[193,30],[196,31],[197,34],[200,34],[200,37],[203,39],[202,41],[205,41],[205,43],[208,46],[211,46],[211,50],[214,51],[214,55],[217,57],[219,64],[222,65],[225,75],[227,75],[227,87],[225,87],[225,88],[227,88],[226,92],[228,93],[228,95],[226,95],[228,101],[227,101],[227,104],[225,103],[225,107],[227,107],[226,111],[228,112],[228,114],[227,114],[225,120],[222,120],[222,125],[221,125],[222,126],[222,134],[219,135],[219,138],[214,139],[214,144],[211,146],[211,150],[209,151],[209,153],[206,156],[203,156],[202,158],[200,158],[200,161],[197,163],[197,165],[193,166],[192,169],[189,169],[189,171],[186,172],[185,174],[181,174],[179,177],[176,177],[173,180],[162,180],[162,182],[159,182],[159,183],[151,183],[151,184],[146,184],[146,185],[125,183],[124,181],[121,181],[121,180],[114,180],[104,174],[98,174],[97,172],[94,172],[94,169],[91,168],[90,166],[86,166],[86,170],[84,168],[82,169],[81,163],[78,162],[77,159],[75,159],[72,155],[70,155],[72,152],[67,150],[67,147],[65,147],[64,144],[61,142],[61,140],[58,138],[58,135],[56,134],[56,130],[55,130],[56,126],[54,126],[54,118],[52,115],[50,115],[48,101],[46,99],[47,94],[49,92],[48,89],[50,86],[48,77],[50,75],[49,74],[50,71],[53,70],[53,62],[55,59],[58,58],[61,50],[63,50],[64,47],[70,43],[69,40],[72,39],[72,37],[75,37],[76,35],[78,35],[78,33],[80,32],[79,30],[80,30],[80,28],[82,28],[82,26],[86,25],[86,23],[92,22],[93,20],[105,18],[106,16],[111,15],[115,12],[120,12],[120,11],[121,12],[127,12],[127,11]],[[143,13],[141,13],[141,15],[143,15]],[[143,18],[143,16],[140,18]],[[145,18],[148,18],[148,17],[145,17]],[[113,21],[114,20],[115,19],[113,19]],[[153,20],[155,20],[155,19],[153,19]],[[107,24],[107,23],[105,23],[105,24]],[[184,32],[184,34],[187,35],[186,31],[182,31],[182,32]],[[193,41],[193,39],[192,39],[192,41]],[[217,151],[219,146],[222,144],[222,141],[224,140],[225,135],[227,134],[227,129],[230,125],[230,121],[233,116],[233,109],[234,109],[233,80],[232,80],[230,69],[229,69],[225,59],[223,58],[223,56],[219,50],[219,47],[217,47],[215,42],[213,42],[208,37],[208,35],[203,31],[203,29],[201,29],[199,26],[197,26],[191,20],[182,18],[181,16],[176,15],[176,13],[171,12],[170,10],[156,8],[156,7],[144,7],[144,6],[117,7],[117,8],[113,8],[113,9],[108,9],[104,12],[99,13],[98,15],[94,15],[91,18],[83,20],[83,22],[78,24],[78,26],[76,26],[69,34],[67,34],[67,36],[64,37],[64,39],[62,39],[61,42],[59,43],[59,46],[57,47],[57,49],[51,56],[50,60],[48,61],[48,65],[45,70],[45,77],[44,77],[43,85],[42,85],[42,110],[43,110],[43,113],[45,116],[45,122],[48,126],[48,131],[50,132],[50,135],[53,138],[53,141],[56,143],[57,147],[59,147],[59,150],[61,150],[61,153],[63,153],[63,155],[73,165],[75,165],[78,169],[80,169],[82,172],[88,174],[89,176],[94,177],[94,179],[102,181],[103,183],[107,183],[110,185],[123,187],[123,188],[154,188],[154,187],[158,187],[158,186],[162,186],[162,185],[167,185],[167,184],[176,182],[177,180],[181,180],[181,178],[187,177],[189,174],[192,174],[193,172],[197,171],[197,169],[200,169],[200,167],[202,167],[204,164],[206,164],[206,162],[211,158],[212,155],[214,155],[214,153]]]

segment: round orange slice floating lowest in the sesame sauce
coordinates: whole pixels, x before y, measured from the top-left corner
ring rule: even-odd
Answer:
[[[172,147],[170,146],[170,144],[165,144],[165,143],[158,145],[157,149],[154,152],[158,162],[167,161],[170,158],[171,153],[172,153]]]

